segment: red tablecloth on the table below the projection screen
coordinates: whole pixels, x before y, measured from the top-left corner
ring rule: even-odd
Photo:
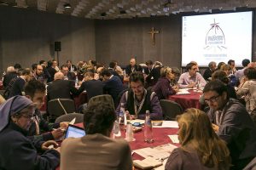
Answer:
[[[193,90],[189,90],[189,93],[190,94],[169,95],[168,99],[177,102],[182,106],[183,110],[191,107],[201,109],[199,98],[202,93],[194,92]]]

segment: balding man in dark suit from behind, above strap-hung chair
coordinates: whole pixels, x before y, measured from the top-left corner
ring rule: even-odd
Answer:
[[[73,99],[79,94],[75,84],[70,80],[63,80],[64,74],[62,72],[55,73],[55,80],[47,87],[47,100],[50,99]]]

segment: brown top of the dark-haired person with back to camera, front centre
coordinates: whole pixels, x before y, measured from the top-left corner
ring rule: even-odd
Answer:
[[[68,138],[61,144],[61,170],[66,169],[131,170],[131,149],[124,139],[100,133]]]

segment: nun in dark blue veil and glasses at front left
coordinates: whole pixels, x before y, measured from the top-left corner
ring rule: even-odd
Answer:
[[[32,101],[15,96],[0,105],[0,169],[55,169],[60,163],[59,148],[45,151],[55,141],[32,142],[26,138],[34,113]]]

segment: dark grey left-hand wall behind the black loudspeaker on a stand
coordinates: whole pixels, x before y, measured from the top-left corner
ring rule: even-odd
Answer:
[[[95,59],[95,26],[86,20],[20,8],[0,7],[1,68],[20,63],[29,67],[55,57],[54,42],[61,42],[60,64],[72,59]],[[1,69],[1,71],[3,71]]]

